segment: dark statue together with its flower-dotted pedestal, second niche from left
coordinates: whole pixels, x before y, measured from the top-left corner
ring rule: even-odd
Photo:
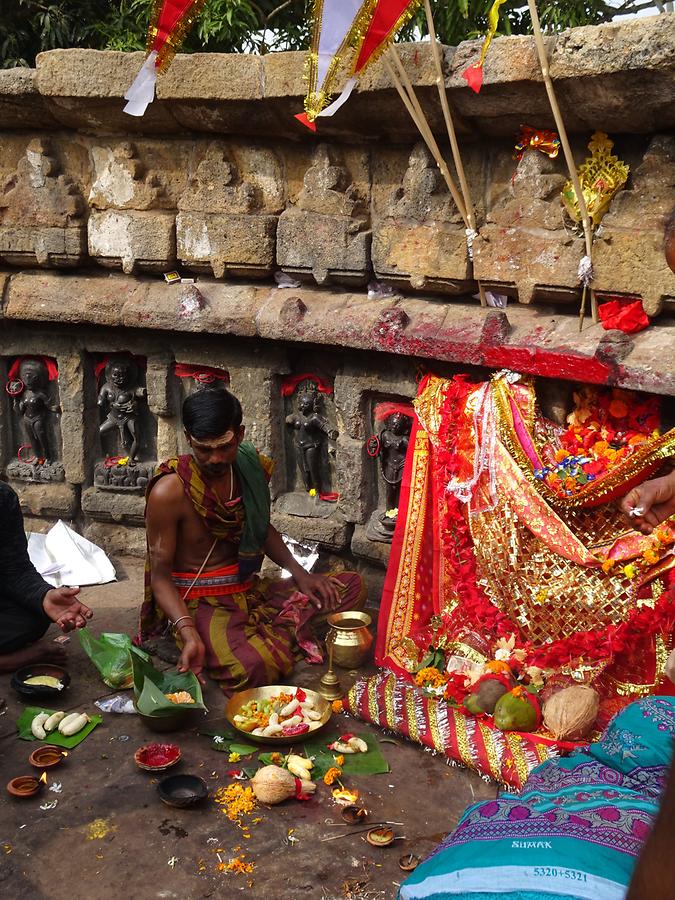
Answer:
[[[130,354],[104,357],[95,367],[105,458],[94,468],[100,490],[143,491],[155,469],[155,423],[148,409],[145,361]],[[141,457],[143,459],[141,459]]]

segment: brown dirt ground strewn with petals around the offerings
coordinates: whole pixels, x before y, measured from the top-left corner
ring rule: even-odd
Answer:
[[[137,561],[116,564],[117,583],[82,591],[95,610],[96,634],[135,630],[142,569]],[[48,637],[56,636],[52,627]],[[72,683],[64,703],[68,709],[97,712],[93,701],[111,692],[76,638],[67,648]],[[293,680],[312,687],[323,671],[299,666]],[[353,676],[340,674],[347,686]],[[9,676],[0,676],[0,697],[7,700],[7,711],[0,717],[3,785],[35,771],[28,756],[39,746],[16,736],[24,704],[9,681]],[[199,730],[216,730],[224,723],[224,701],[213,684],[205,690],[205,702],[209,714]],[[496,794],[495,787],[477,775],[451,768],[443,757],[417,745],[403,740],[382,743],[390,773],[353,778],[349,786],[361,792],[371,821],[404,823],[395,828],[402,837],[391,847],[372,848],[363,834],[322,842],[324,836],[351,831],[330,827],[341,819],[322,783],[307,802],[261,807],[253,814],[261,821],[251,825],[250,838],[244,839],[212,799],[219,786],[231,782],[227,772],[233,765],[226,754],[211,749],[208,737],[197,729],[166,736],[183,754],[172,771],[199,774],[211,789],[203,806],[173,809],[160,801],[157,779],[139,770],[133,759],[137,747],[163,737],[153,735],[133,715],[105,714],[103,719],[52,770],[49,787],[37,797],[15,800],[2,792],[0,895],[13,900],[99,898],[113,892],[131,900],[238,895],[266,900],[393,898],[405,877],[398,866],[401,855],[425,857],[454,828],[467,804]],[[344,715],[334,716],[334,723],[337,730],[385,737]],[[52,791],[57,784],[60,790]],[[58,802],[53,808],[41,808],[54,800]],[[250,875],[220,872],[218,852],[223,861],[244,852],[255,868]]]

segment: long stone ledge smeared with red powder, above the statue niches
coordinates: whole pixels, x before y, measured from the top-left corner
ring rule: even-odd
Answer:
[[[177,286],[123,275],[24,272],[11,276],[4,317],[348,347],[675,394],[671,316],[633,336],[604,331],[587,318],[579,333],[576,304],[568,312],[517,303],[500,311],[468,299],[369,300],[365,292],[206,279],[197,285],[208,305],[198,320],[186,320],[177,315]],[[297,315],[287,315],[289,304]]]

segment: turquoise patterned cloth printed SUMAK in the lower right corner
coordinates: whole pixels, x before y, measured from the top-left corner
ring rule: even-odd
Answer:
[[[518,796],[473,804],[401,900],[623,900],[658,810],[675,698],[626,707],[587,752],[536,768]]]

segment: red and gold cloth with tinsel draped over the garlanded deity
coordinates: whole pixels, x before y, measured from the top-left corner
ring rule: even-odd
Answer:
[[[409,675],[430,648],[480,664],[510,642],[523,667],[592,682],[606,701],[658,688],[675,521],[645,536],[614,501],[675,456],[675,430],[659,434],[653,398],[583,388],[575,400],[566,428],[512,373],[422,381],[378,664]]]

